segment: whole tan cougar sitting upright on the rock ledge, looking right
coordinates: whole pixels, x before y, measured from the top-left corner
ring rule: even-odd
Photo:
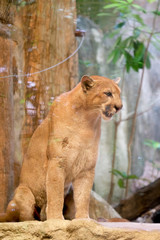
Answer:
[[[73,90],[57,97],[31,138],[19,186],[0,221],[17,216],[20,221],[32,220],[35,207],[45,206],[47,219],[63,219],[64,195],[71,183],[75,217],[88,218],[101,117],[108,120],[121,108],[118,85],[100,76],[84,76]]]

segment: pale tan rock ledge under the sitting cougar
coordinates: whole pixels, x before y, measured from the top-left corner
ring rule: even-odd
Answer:
[[[102,226],[102,224],[104,226]],[[102,223],[93,220],[1,223],[0,239],[5,240],[159,240],[160,225]]]

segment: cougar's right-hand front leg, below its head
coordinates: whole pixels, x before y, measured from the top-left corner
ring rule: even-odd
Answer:
[[[75,218],[89,218],[89,202],[93,179],[94,169],[81,173],[73,182]]]

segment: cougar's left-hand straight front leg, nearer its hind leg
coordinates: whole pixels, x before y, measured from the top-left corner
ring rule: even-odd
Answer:
[[[48,162],[46,190],[47,190],[47,220],[64,219],[62,210],[64,204],[64,168],[62,159],[51,159]]]

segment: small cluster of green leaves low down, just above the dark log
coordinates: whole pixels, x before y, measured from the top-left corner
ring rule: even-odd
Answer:
[[[117,184],[120,188],[126,188],[126,180],[127,179],[138,179],[138,177],[135,174],[127,175],[126,172],[121,172],[117,169],[112,169],[111,173],[118,177]]]

